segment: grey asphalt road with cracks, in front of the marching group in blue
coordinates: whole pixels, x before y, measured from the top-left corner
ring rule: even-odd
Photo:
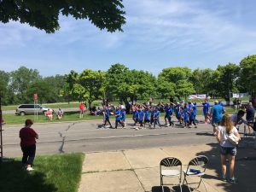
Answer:
[[[121,129],[119,126],[117,130],[99,129],[97,125],[102,124],[102,120],[33,125],[32,128],[39,135],[37,154],[90,153],[216,143],[215,137],[212,137],[211,125],[199,124],[197,129],[162,127],[137,131],[134,126],[129,125],[130,119],[127,119],[127,123],[126,129]],[[161,123],[164,124],[163,119]],[[4,157],[21,155],[20,128],[20,125],[3,126]]]

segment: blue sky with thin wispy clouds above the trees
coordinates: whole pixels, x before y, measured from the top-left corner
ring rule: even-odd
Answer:
[[[20,66],[44,77],[114,63],[157,75],[165,67],[215,69],[256,54],[256,1],[124,0],[124,32],[61,17],[47,34],[18,22],[0,23],[0,70]]]

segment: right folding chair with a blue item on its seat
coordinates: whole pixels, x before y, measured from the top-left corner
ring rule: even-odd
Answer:
[[[194,189],[198,189],[200,187],[201,182],[204,184],[205,188],[207,189],[207,186],[202,177],[205,175],[205,172],[207,170],[206,165],[208,162],[209,160],[207,156],[199,155],[199,156],[196,156],[193,160],[190,160],[187,169],[183,170],[183,173],[184,173],[183,183],[186,182],[186,185],[188,186],[190,192],[191,192],[191,189],[189,187],[187,177],[200,177],[200,182],[198,183],[198,186]]]

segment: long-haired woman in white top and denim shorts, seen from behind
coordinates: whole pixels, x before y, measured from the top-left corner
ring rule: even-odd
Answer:
[[[228,140],[231,133],[240,139],[240,135],[233,125],[230,116],[225,114],[218,126],[217,132],[217,140],[220,144],[222,174],[223,179],[226,180],[226,159],[228,157],[230,160],[230,183],[236,183],[236,178],[234,177],[236,145]]]

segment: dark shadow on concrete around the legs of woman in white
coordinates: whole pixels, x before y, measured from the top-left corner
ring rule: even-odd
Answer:
[[[235,176],[238,179],[238,183],[231,184],[228,182],[220,181],[220,177],[222,177],[222,172],[221,172],[218,144],[209,143],[207,145],[211,146],[212,149],[208,151],[203,151],[201,153],[197,153],[196,155],[206,155],[208,157],[209,163],[207,164],[207,169],[217,172],[217,177],[206,174],[204,176],[204,178],[206,178],[206,182],[210,182],[211,180],[212,181],[216,180],[216,182],[214,181],[214,183],[216,183],[217,189],[220,188],[223,191],[227,191],[227,192],[256,191],[256,185],[255,185],[255,179],[254,179],[254,175],[256,172],[255,149],[250,147],[237,148]],[[227,177],[230,178],[228,161],[227,161]]]

